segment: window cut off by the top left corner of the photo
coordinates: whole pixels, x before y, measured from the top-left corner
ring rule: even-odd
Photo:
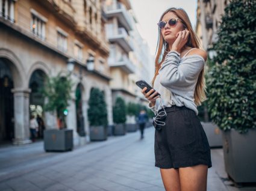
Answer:
[[[14,1],[13,0],[0,0],[0,17],[4,17],[10,22],[14,22]]]

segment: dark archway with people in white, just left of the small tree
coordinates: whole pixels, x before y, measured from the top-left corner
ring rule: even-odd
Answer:
[[[46,80],[46,74],[42,70],[35,70],[30,77],[29,86],[30,93],[30,115],[33,115],[37,119],[39,124],[38,138],[43,138],[43,130],[45,130],[45,123],[43,120],[43,103],[44,99],[40,93],[40,89]]]

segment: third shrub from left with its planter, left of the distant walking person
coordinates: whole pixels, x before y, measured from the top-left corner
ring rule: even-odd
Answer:
[[[121,97],[117,97],[113,107],[114,135],[125,135],[126,105]]]

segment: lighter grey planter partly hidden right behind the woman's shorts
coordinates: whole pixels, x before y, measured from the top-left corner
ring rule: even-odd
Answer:
[[[204,132],[207,136],[209,145],[213,147],[222,147],[222,131],[214,123],[201,122]]]

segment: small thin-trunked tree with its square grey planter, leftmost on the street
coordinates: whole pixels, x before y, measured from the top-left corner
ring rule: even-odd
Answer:
[[[45,111],[57,113],[58,127],[44,132],[44,146],[46,151],[66,151],[73,148],[73,132],[66,130],[66,115],[64,111],[71,99],[72,80],[70,75],[58,73],[55,77],[48,77],[40,91],[47,100],[43,106]],[[62,132],[60,132],[62,131]]]

